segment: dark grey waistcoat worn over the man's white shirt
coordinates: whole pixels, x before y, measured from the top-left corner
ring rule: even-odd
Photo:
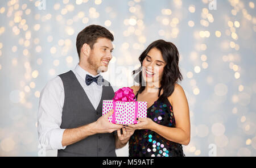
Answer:
[[[102,116],[102,100],[112,100],[114,91],[112,86],[102,86],[102,96],[97,110],[94,109],[84,89],[69,71],[59,75],[64,85],[64,106],[60,128],[77,128],[90,124]],[[108,83],[105,80],[104,83]],[[114,133],[101,133],[88,136],[65,149],[58,150],[57,156],[116,156]]]

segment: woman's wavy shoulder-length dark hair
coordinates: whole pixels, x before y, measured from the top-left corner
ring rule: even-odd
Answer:
[[[168,96],[172,95],[174,92],[175,84],[178,81],[182,81],[183,77],[179,69],[179,51],[174,44],[164,40],[154,41],[148,45],[147,49],[141,54],[141,56],[139,56],[141,67],[133,71],[133,75],[139,72],[139,74],[135,76],[135,81],[139,83],[138,93],[142,93],[142,91],[145,89],[145,86],[142,85],[142,62],[152,48],[158,49],[162,53],[164,61],[167,63],[166,66],[164,66],[163,76],[160,81],[161,86],[159,89],[158,97],[163,90],[163,94],[159,99],[163,99],[164,97],[168,98]]]

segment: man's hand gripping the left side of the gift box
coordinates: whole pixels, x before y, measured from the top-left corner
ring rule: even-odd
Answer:
[[[98,118],[98,120],[95,122],[95,129],[97,133],[112,133],[123,127],[120,124],[113,124],[109,122],[108,117],[112,115],[113,112],[114,110],[112,109],[104,116]]]

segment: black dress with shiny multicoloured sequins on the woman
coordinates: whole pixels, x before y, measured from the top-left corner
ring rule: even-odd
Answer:
[[[137,98],[138,94],[135,96]],[[159,99],[147,109],[147,117],[166,127],[176,127],[174,112],[167,98]],[[181,144],[166,140],[158,133],[141,129],[135,130],[129,140],[130,157],[183,157]]]

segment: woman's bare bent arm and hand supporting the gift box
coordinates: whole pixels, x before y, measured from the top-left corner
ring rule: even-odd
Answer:
[[[176,127],[166,127],[155,123],[150,118],[138,119],[141,121],[135,125],[129,125],[127,129],[150,129],[167,140],[179,144],[188,145],[190,141],[189,107],[184,90],[180,85],[175,85],[174,93],[168,98],[173,106]]]

